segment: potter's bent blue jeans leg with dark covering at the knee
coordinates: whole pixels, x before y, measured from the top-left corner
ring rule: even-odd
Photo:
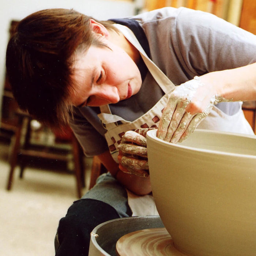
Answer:
[[[126,190],[110,173],[102,174],[96,185],[75,201],[66,216],[60,219],[55,238],[56,256],[88,255],[94,227],[131,215]]]

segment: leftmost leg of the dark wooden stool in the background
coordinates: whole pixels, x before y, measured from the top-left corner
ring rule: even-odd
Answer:
[[[14,140],[14,146],[12,147],[11,150],[11,158],[10,158],[10,173],[9,173],[9,177],[8,177],[8,181],[7,181],[7,190],[11,189],[12,186],[12,179],[13,179],[13,175],[14,175],[14,169],[17,163],[17,157],[18,157],[18,150],[20,148],[20,135],[21,135],[21,129],[22,129],[22,121],[23,118],[19,117],[18,119],[18,126],[17,129],[15,131],[15,140]]]

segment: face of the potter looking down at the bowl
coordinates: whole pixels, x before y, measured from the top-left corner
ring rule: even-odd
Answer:
[[[132,58],[118,45],[103,39],[108,47],[90,46],[75,53],[73,75],[74,106],[117,103],[138,93],[142,79]]]

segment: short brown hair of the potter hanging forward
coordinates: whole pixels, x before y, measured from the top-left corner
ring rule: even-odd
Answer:
[[[6,52],[7,75],[20,108],[52,127],[68,123],[72,106],[71,56],[78,46],[102,46],[91,33],[90,16],[47,9],[18,23]],[[110,21],[98,21],[114,29]]]

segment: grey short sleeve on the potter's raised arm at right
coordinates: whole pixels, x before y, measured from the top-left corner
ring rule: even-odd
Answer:
[[[256,35],[206,12],[183,8],[176,20],[176,39],[194,74],[256,62]]]

